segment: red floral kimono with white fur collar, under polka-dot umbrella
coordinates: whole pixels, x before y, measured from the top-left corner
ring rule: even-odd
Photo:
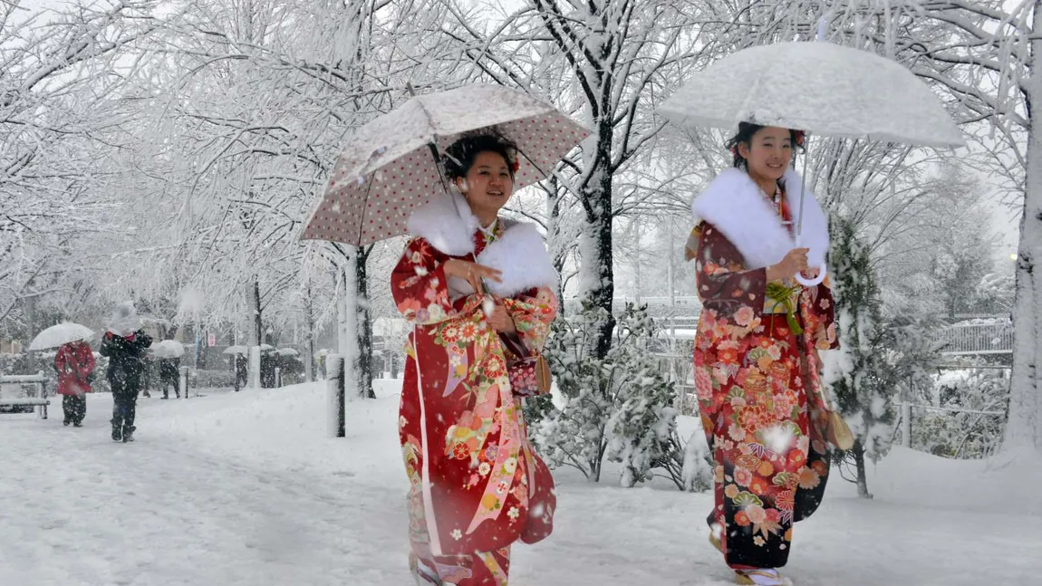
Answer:
[[[537,541],[553,514],[553,479],[528,442],[483,296],[446,278],[444,264],[476,254],[501,270],[502,283],[489,287],[532,352],[542,350],[557,311],[557,275],[535,226],[501,220],[489,238],[466,202],[461,209],[466,219],[436,198],[415,212],[410,233],[417,237],[391,277],[398,311],[414,326],[398,422],[411,528],[429,535],[435,555]]]

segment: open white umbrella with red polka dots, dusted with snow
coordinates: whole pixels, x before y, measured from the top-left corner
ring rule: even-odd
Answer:
[[[517,145],[519,189],[549,175],[590,131],[553,106],[498,85],[415,97],[354,132],[301,239],[365,246],[404,234],[414,209],[447,197],[431,147],[445,152],[480,133]]]

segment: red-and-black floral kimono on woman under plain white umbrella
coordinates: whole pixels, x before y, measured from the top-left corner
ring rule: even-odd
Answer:
[[[733,190],[747,188],[727,179],[724,184]],[[714,215],[709,207],[703,211]],[[753,213],[744,221],[780,226],[777,212],[768,208],[765,213],[774,215]],[[731,222],[726,213],[715,216]],[[743,238],[743,229],[731,227],[730,233]],[[793,248],[785,240],[774,246],[782,255]],[[794,317],[802,329],[797,334],[777,300],[767,296],[767,261],[750,261],[708,222],[701,224],[694,256],[702,301],[695,390],[716,462],[716,506],[709,523],[723,527],[724,556],[731,567],[780,567],[788,560],[793,523],[820,504],[828,475],[822,428],[812,423],[820,423],[823,411],[810,404],[805,385],[822,384],[815,350],[838,347],[832,294],[827,283],[792,292],[798,309]]]

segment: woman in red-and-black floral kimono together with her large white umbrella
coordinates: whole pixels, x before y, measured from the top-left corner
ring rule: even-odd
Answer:
[[[695,388],[717,464],[710,540],[737,583],[792,584],[777,571],[792,551],[792,525],[821,502],[828,445],[854,445],[830,409],[818,357],[839,345],[827,221],[789,169],[793,151],[803,131],[933,147],[963,139],[908,69],[828,43],[727,55],[660,112],[681,126],[738,125],[727,143],[734,168],[692,203],[688,247],[703,307]]]

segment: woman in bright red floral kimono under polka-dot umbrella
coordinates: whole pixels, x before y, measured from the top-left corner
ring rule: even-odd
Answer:
[[[542,349],[557,274],[535,225],[498,216],[514,188],[513,147],[477,136],[446,155],[460,194],[413,214],[414,238],[391,276],[398,311],[415,326],[398,421],[410,562],[418,584],[502,586],[511,544],[549,535],[555,502],[500,335]],[[482,280],[490,296],[478,292]]]

